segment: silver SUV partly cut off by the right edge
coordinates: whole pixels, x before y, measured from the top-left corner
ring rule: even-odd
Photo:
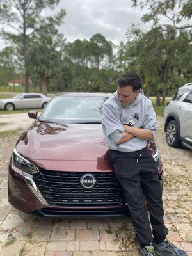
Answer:
[[[164,131],[170,147],[192,149],[192,83],[180,87],[165,107]]]

